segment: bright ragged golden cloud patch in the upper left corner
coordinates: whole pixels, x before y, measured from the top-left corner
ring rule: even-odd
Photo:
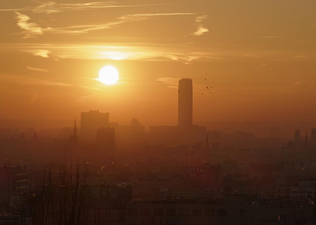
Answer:
[[[17,26],[25,30],[26,34],[23,38],[35,37],[36,35],[42,35],[43,30],[37,23],[29,22],[31,19],[25,14],[15,12],[15,19],[17,20]]]

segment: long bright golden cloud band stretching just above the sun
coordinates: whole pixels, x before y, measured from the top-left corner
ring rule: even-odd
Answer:
[[[166,61],[175,60],[183,63],[191,63],[194,60],[222,59],[218,54],[212,52],[196,52],[190,51],[189,48],[181,48],[174,46],[146,46],[148,44],[140,44],[139,46],[126,45],[38,45],[26,46],[20,51],[29,52],[33,55],[44,58],[72,58],[72,59],[125,59],[125,60],[152,60]],[[46,50],[40,50],[41,48]],[[195,49],[194,49],[195,50]],[[48,55],[49,54],[49,55]]]

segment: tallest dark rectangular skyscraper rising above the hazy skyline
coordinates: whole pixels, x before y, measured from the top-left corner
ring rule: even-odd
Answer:
[[[178,126],[190,128],[192,126],[192,80],[183,78],[179,80],[178,89]]]

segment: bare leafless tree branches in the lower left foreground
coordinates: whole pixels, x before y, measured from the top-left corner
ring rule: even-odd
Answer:
[[[89,205],[87,164],[81,169],[77,161],[60,164],[52,173],[52,166],[43,171],[37,184],[28,193],[20,193],[15,204],[16,224],[21,225],[102,225],[104,211]],[[81,171],[82,170],[82,171]],[[34,188],[36,187],[36,188]],[[34,191],[35,189],[35,191]]]

